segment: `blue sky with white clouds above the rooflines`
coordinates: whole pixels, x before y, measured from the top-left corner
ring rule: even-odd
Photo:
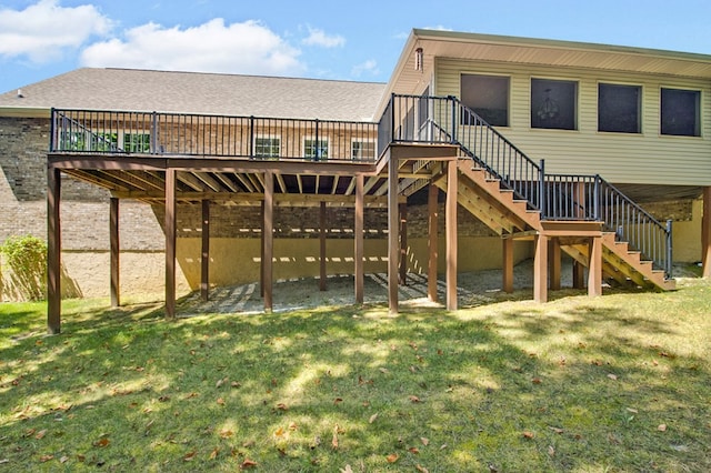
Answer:
[[[0,0],[0,92],[80,67],[387,82],[412,28],[711,56],[709,0]]]

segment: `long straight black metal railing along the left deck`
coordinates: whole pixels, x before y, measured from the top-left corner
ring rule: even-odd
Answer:
[[[374,162],[378,124],[338,120],[52,110],[50,152]]]

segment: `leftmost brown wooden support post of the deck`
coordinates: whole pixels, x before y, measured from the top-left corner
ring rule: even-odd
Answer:
[[[61,194],[60,171],[47,170],[47,332],[58,334],[61,325]]]

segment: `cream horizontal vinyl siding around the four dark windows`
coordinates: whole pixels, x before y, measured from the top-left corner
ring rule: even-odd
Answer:
[[[709,81],[438,58],[434,93],[461,97],[462,73],[510,76],[510,127],[498,130],[531,159],[544,159],[548,172],[601,174],[619,183],[711,185]],[[578,81],[578,130],[531,129],[531,78]],[[598,132],[599,82],[642,87],[641,133]],[[701,91],[701,137],[660,134],[661,88]]]

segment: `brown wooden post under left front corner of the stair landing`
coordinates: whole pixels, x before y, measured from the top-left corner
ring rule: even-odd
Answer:
[[[388,160],[388,308],[397,314],[398,308],[398,256],[400,255],[400,205],[398,202],[398,159]]]

